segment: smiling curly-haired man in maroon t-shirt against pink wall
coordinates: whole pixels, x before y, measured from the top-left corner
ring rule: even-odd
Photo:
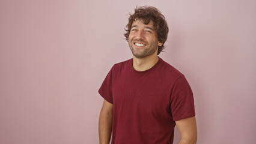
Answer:
[[[187,80],[157,55],[164,48],[168,25],[154,7],[137,7],[126,25],[133,58],[115,64],[99,94],[105,99],[99,119],[100,143],[197,142],[194,98]]]

